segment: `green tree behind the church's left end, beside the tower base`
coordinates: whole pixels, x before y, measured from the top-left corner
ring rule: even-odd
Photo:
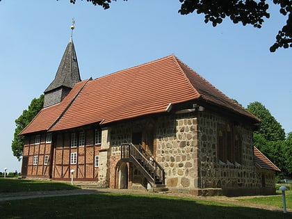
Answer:
[[[24,147],[24,137],[19,136],[20,131],[22,131],[28,124],[33,120],[35,115],[42,109],[44,102],[44,95],[40,95],[38,99],[33,99],[29,105],[28,110],[24,110],[22,115],[20,115],[17,120],[15,120],[16,128],[14,133],[14,139],[12,141],[11,149],[13,151],[13,156],[16,156],[18,160],[22,157],[22,149]]]

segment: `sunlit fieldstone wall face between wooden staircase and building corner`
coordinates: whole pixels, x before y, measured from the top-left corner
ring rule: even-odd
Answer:
[[[159,118],[156,160],[165,170],[165,183],[179,193],[200,188],[197,118],[189,114]]]

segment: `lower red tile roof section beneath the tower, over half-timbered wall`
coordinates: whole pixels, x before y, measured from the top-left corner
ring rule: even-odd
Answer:
[[[26,133],[33,133],[38,131],[49,131],[51,125],[58,121],[59,117],[66,110],[67,106],[70,106],[70,103],[73,102],[74,98],[76,95],[78,95],[86,82],[88,81],[81,81],[76,83],[74,88],[63,99],[63,101],[60,102],[60,104],[42,108],[38,115],[33,118],[31,123],[19,134],[24,135]]]

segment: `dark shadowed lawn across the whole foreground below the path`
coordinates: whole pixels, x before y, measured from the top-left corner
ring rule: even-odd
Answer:
[[[0,202],[3,218],[291,218],[291,213],[178,197],[97,193]]]

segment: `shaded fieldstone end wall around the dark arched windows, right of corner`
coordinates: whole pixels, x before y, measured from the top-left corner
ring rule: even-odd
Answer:
[[[201,188],[254,187],[257,186],[253,161],[252,127],[236,125],[243,146],[241,164],[222,163],[217,159],[217,126],[228,120],[210,113],[200,113],[200,174]]]

